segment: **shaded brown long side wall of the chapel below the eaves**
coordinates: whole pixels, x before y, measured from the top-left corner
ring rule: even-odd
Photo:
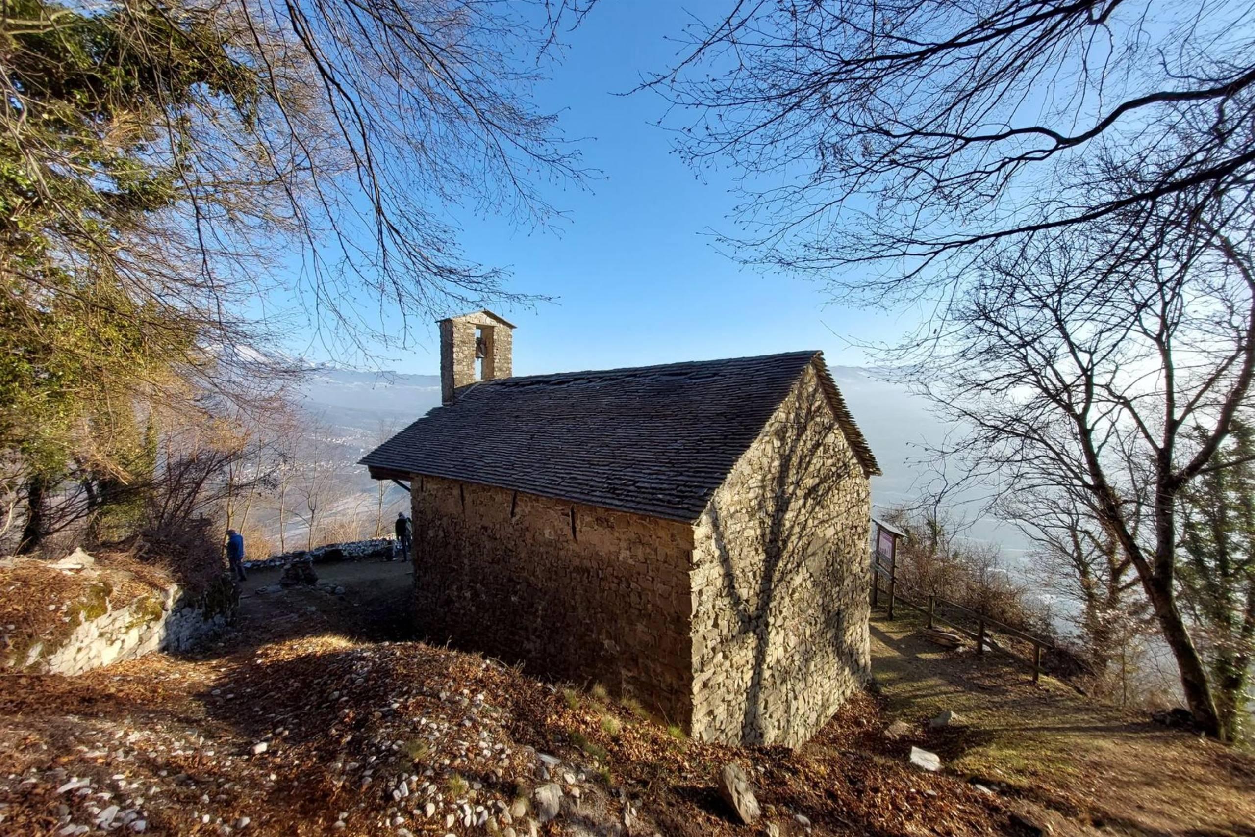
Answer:
[[[690,526],[434,477],[412,488],[423,635],[686,725]]]

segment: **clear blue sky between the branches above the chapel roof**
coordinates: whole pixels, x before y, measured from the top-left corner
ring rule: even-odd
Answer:
[[[513,290],[557,297],[535,310],[502,307],[518,325],[515,373],[596,369],[822,349],[831,363],[866,358],[847,338],[896,335],[896,317],[826,304],[821,286],[740,267],[709,231],[733,231],[730,172],[699,179],[656,127],[664,102],[630,90],[666,68],[684,9],[712,16],[725,3],[601,3],[569,34],[565,60],[537,90],[561,110],[567,137],[587,137],[584,162],[602,173],[590,188],[552,188],[567,213],[556,232],[518,230],[506,218],[462,216],[466,255],[507,267]],[[404,373],[437,373],[434,326],[418,345],[375,359]]]

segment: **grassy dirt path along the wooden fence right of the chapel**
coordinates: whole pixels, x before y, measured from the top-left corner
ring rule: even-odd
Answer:
[[[948,767],[1107,834],[1255,834],[1255,760],[1123,715],[998,655],[940,649],[912,614],[872,620],[872,673],[890,712],[922,728],[951,709],[965,722],[934,734]]]

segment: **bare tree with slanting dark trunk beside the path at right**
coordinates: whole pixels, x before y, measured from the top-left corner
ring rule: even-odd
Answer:
[[[973,428],[941,452],[971,478],[999,496],[1084,498],[1137,572],[1199,725],[1220,735],[1178,601],[1178,511],[1192,481],[1225,467],[1215,453],[1250,399],[1255,259],[1245,192],[1209,206],[1185,222],[1172,205],[1153,225],[1131,211],[1000,248],[911,376]]]

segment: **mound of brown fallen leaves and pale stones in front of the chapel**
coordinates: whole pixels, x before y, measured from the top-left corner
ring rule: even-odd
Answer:
[[[1012,828],[998,799],[887,755],[886,719],[863,694],[799,750],[732,748],[422,642],[233,642],[73,679],[6,678],[0,831],[405,837],[587,821],[600,833],[759,833],[718,798],[729,760],[783,834]],[[542,826],[528,798],[546,782],[566,807]]]

